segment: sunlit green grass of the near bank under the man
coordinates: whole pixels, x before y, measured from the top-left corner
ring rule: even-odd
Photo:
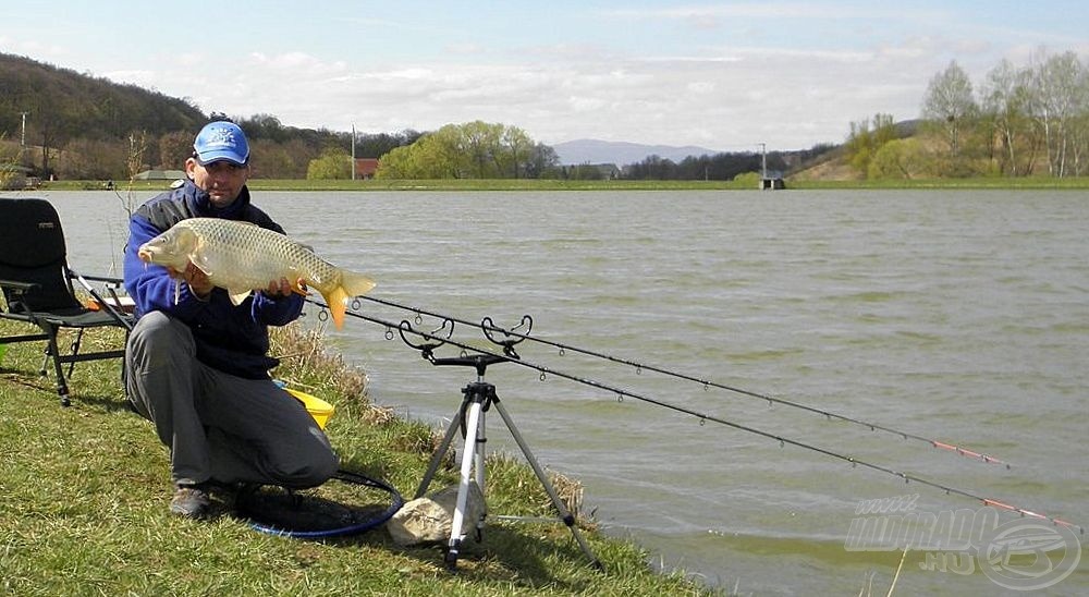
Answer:
[[[29,328],[0,321],[0,336]],[[101,336],[101,334],[97,334]],[[102,344],[117,344],[112,334]],[[93,348],[85,340],[84,350]],[[11,344],[0,364],[0,593],[9,595],[697,595],[682,573],[657,574],[648,552],[580,527],[602,561],[591,569],[563,525],[491,523],[449,573],[438,548],[395,546],[384,529],[298,540],[222,515],[168,513],[168,453],[150,424],[124,407],[119,362],[76,366],[73,405],[39,377],[42,344]],[[435,431],[369,404],[364,377],[287,330],[276,371],[337,405],[328,426],[347,468],[380,476],[411,498]],[[432,489],[454,483],[440,471]],[[551,515],[528,467],[490,461],[489,508]],[[562,492],[562,491],[561,491]]]

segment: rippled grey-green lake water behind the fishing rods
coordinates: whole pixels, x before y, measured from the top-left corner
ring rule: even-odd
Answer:
[[[125,228],[115,195],[42,195],[61,212],[74,267],[103,272],[119,263]],[[1089,524],[1084,192],[256,198],[293,236],[370,275],[376,297],[505,327],[528,314],[535,337],[962,444],[1012,467],[570,351],[527,342],[526,361]],[[419,325],[428,326],[438,322]],[[443,425],[474,374],[432,367],[384,331],[350,319],[330,336],[368,371],[376,402]],[[464,328],[458,338],[482,343]],[[516,365],[492,366],[488,380],[540,462],[583,482],[586,508],[609,533],[646,546],[656,565],[741,594],[857,595],[871,576],[884,594],[900,549],[846,549],[861,500],[906,497],[902,510],[934,515],[982,507],[715,421],[556,376],[542,381]],[[489,418],[489,447],[517,451],[498,417]],[[1003,513],[1000,522],[1017,520]],[[1068,552],[1084,539],[1068,540]],[[1019,594],[992,581],[1017,570],[1000,562],[987,574],[984,559],[909,557],[896,595]],[[1089,594],[1089,555],[1081,560],[1045,590]],[[949,565],[965,561],[974,573]]]

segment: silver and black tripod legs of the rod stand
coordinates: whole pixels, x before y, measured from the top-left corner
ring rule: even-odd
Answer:
[[[442,458],[445,455],[451,443],[453,442],[454,434],[457,432],[457,429],[464,422],[466,430],[465,450],[462,454],[461,477],[457,486],[457,502],[454,508],[453,520],[451,522],[450,541],[448,544],[444,560],[446,568],[449,570],[454,570],[457,566],[457,558],[461,552],[462,541],[464,540],[462,527],[466,523],[465,512],[467,511],[469,482],[472,479],[474,465],[476,468],[477,485],[479,486],[481,492],[485,491],[485,442],[487,441],[485,437],[485,410],[487,410],[487,406],[494,405],[499,411],[500,416],[503,418],[503,423],[506,425],[506,428],[514,437],[514,441],[517,442],[523,455],[525,455],[529,465],[533,467],[534,474],[537,475],[537,479],[540,480],[541,486],[549,496],[549,499],[551,499],[552,505],[555,508],[556,512],[559,512],[560,521],[563,522],[568,529],[571,529],[572,536],[575,537],[575,541],[578,543],[578,547],[590,560],[590,563],[595,568],[600,569],[601,562],[594,556],[594,552],[590,550],[590,546],[586,543],[586,539],[583,538],[578,527],[575,526],[575,517],[563,504],[563,501],[555,492],[552,484],[548,480],[548,477],[544,475],[544,471],[541,468],[537,459],[529,450],[529,444],[526,443],[525,438],[522,437],[518,428],[514,425],[514,421],[511,418],[511,415],[499,401],[499,397],[495,395],[494,387],[490,383],[477,382],[466,387],[464,393],[465,400],[462,402],[462,407],[457,410],[453,421],[450,422],[450,427],[446,428],[442,442],[439,444],[438,450],[436,450],[435,455],[431,456],[431,462],[428,465],[427,472],[424,474],[424,479],[420,482],[419,489],[416,491],[417,498],[423,497],[427,491],[431,479],[435,477],[435,474],[439,468]],[[473,523],[476,524],[477,536],[479,537],[484,528],[484,520],[473,521]]]

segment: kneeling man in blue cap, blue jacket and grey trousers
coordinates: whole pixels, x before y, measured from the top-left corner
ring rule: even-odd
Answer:
[[[185,161],[183,184],[140,206],[130,220],[125,289],[138,320],[125,354],[125,389],[170,449],[170,511],[198,517],[209,488],[242,484],[314,487],[339,461],[306,409],[268,375],[268,326],[302,314],[298,280],[270,280],[240,305],[189,264],[146,265],[137,249],[187,218],[227,218],[283,233],[249,202],[249,145],[232,122],[207,124]],[[180,285],[180,288],[176,288]]]

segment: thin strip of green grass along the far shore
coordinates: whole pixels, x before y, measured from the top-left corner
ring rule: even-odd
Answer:
[[[169,186],[166,181],[136,181],[134,191],[162,191]],[[1053,179],[1033,178],[974,178],[974,179],[926,179],[926,180],[881,180],[881,181],[791,181],[787,191],[807,188],[874,190],[1089,190],[1089,176]],[[379,180],[270,180],[250,179],[253,191],[426,191],[426,192],[521,192],[521,191],[754,191],[751,181],[559,181],[559,180],[423,180],[423,181],[379,181]],[[44,183],[42,191],[86,191],[105,188],[101,181],[53,181]],[[122,183],[127,190],[127,183]]]

